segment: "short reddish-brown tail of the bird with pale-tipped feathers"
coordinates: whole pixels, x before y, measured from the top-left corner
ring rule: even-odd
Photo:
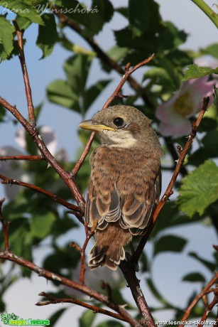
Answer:
[[[95,245],[89,252],[89,267],[96,269],[107,266],[116,270],[121,260],[125,259],[124,245],[131,240],[130,233],[120,226],[118,228],[116,223],[109,223],[105,230],[97,230],[95,240]]]

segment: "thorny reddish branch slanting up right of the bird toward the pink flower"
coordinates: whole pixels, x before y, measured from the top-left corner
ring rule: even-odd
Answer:
[[[207,106],[209,104],[209,97],[205,97],[203,100],[203,104],[202,104],[202,109],[200,110],[200,114],[197,117],[196,122],[192,123],[192,131],[190,133],[190,136],[188,136],[187,142],[185,144],[184,149],[181,149],[180,146],[178,148],[179,151],[179,159],[177,161],[177,165],[175,167],[175,171],[173,173],[173,176],[170,180],[170,183],[163,195],[163,197],[160,199],[160,202],[158,203],[156,210],[153,213],[153,220],[151,221],[150,225],[148,226],[148,230],[146,230],[146,234],[143,235],[137,249],[136,252],[134,254],[133,260],[135,263],[138,262],[139,257],[141,256],[141,252],[143,251],[143,248],[146,245],[146,242],[148,240],[148,237],[151,235],[151,232],[153,230],[154,225],[156,224],[156,221],[158,219],[158,215],[160,214],[160,211],[162,210],[163,206],[165,205],[166,201],[168,200],[168,198],[170,198],[170,195],[173,194],[173,186],[175,184],[176,179],[178,178],[178,174],[180,173],[180,170],[182,168],[182,164],[185,161],[185,156],[187,154],[188,149],[190,148],[190,146],[192,145],[192,141],[195,139],[196,133],[197,133],[197,129],[200,125],[200,122],[207,110]]]

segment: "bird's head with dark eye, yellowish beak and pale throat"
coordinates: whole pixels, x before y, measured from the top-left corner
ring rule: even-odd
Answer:
[[[151,127],[151,120],[131,106],[116,105],[106,108],[94,114],[92,119],[81,122],[79,127],[97,132],[102,144],[130,148],[148,144],[153,136],[158,141]]]

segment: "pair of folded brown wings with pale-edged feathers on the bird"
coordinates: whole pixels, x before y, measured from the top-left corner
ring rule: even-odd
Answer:
[[[159,162],[148,159],[143,167],[134,167],[133,173],[122,177],[116,170],[111,172],[107,164],[97,162],[102,163],[101,157],[94,151],[85,212],[89,227],[97,225],[103,230],[119,220],[133,235],[143,233],[160,196]]]

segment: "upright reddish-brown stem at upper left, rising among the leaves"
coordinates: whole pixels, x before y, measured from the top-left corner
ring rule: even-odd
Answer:
[[[25,60],[25,55],[24,55],[24,50],[23,50],[23,31],[20,30],[18,27],[18,23],[16,21],[12,21],[13,26],[16,29],[16,36],[18,38],[18,48],[19,48],[19,60],[21,63],[21,69],[23,73],[23,81],[25,85],[25,91],[26,91],[26,100],[27,100],[27,105],[28,105],[28,117],[30,119],[31,125],[35,126],[36,125],[36,118],[35,118],[35,113],[34,113],[34,108],[33,108],[33,98],[32,98],[32,92],[31,92],[31,85],[28,77],[28,71],[26,68],[26,60]]]

